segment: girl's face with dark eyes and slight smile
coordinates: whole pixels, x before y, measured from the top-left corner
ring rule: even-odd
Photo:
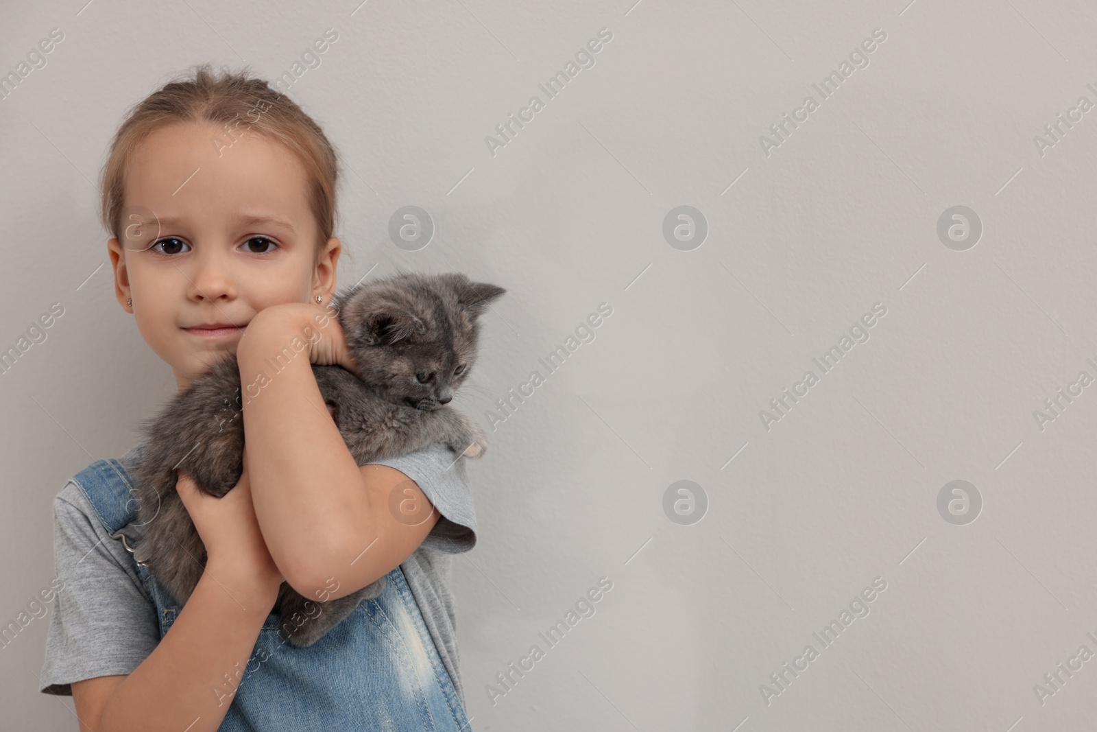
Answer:
[[[192,123],[146,138],[126,170],[123,240],[108,243],[118,302],[180,390],[235,353],[259,311],[316,294],[327,302],[336,286],[339,239],[314,266],[301,160],[253,134],[225,140],[217,126]],[[228,329],[202,330],[213,326]]]

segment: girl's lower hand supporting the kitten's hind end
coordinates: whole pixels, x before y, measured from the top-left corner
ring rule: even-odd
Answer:
[[[202,492],[183,471],[177,471],[176,491],[205,544],[206,570],[213,567],[211,574],[229,594],[239,590],[249,599],[258,596],[273,607],[285,577],[271,559],[259,530],[251,505],[247,448],[244,452],[244,473],[223,497]]]

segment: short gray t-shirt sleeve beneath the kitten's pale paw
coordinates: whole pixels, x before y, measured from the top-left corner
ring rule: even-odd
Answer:
[[[441,515],[421,547],[460,554],[476,545],[476,513],[466,460],[442,442],[436,442],[406,455],[369,464],[388,465],[407,475]]]

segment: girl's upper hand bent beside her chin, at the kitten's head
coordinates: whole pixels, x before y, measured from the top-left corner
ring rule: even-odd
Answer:
[[[354,375],[360,375],[358,363],[347,348],[339,311],[330,305],[315,303],[282,303],[271,305],[258,313],[248,324],[246,335],[250,339],[240,341],[240,348],[249,342],[273,342],[278,348],[290,344],[294,337],[308,344],[308,360],[317,365],[338,364]],[[268,356],[263,353],[262,356]]]

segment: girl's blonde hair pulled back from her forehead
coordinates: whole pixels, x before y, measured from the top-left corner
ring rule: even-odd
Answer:
[[[301,159],[309,182],[309,209],[319,230],[318,262],[324,244],[335,233],[339,156],[310,116],[267,81],[253,77],[248,67],[236,72],[222,69],[216,76],[210,64],[197,65],[131,108],[100,176],[103,228],[122,238],[126,169],[134,150],[155,131],[181,122],[220,126],[226,140],[234,139],[229,125],[235,123],[237,128],[282,143]]]

